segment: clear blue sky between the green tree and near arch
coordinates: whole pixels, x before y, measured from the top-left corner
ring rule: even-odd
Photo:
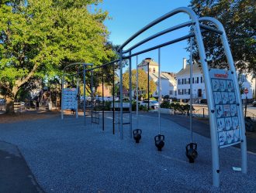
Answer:
[[[110,32],[109,41],[115,45],[121,45],[126,39],[129,39],[130,36],[133,36],[135,32],[154,21],[154,19],[161,17],[161,15],[164,15],[167,12],[171,12],[175,8],[187,7],[188,5],[189,0],[105,0],[102,4],[98,5],[98,8],[102,8],[103,11],[109,12],[109,17],[112,18],[105,22],[105,25]],[[161,30],[187,21],[189,21],[189,16],[180,13],[171,19],[161,22],[161,24],[149,29],[147,32],[144,32],[144,34],[139,36],[133,42],[136,43],[156,32],[160,32]],[[166,36],[162,36],[159,39],[141,46],[141,49],[155,46],[172,39],[177,39],[178,37],[187,35],[188,32],[189,28],[180,29],[178,32],[171,32]],[[187,42],[182,41],[162,48],[161,71],[177,73],[182,68],[182,59],[184,57],[189,58],[189,53],[185,51],[186,46]],[[137,51],[141,49],[137,49]],[[134,50],[134,52],[135,51],[136,50]],[[151,57],[158,62],[157,50],[138,56],[139,63],[146,57]],[[136,57],[133,57],[132,63],[133,68],[136,68]]]

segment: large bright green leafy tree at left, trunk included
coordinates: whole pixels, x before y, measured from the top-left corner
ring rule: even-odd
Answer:
[[[7,113],[33,76],[60,76],[68,63],[100,65],[115,56],[108,46],[106,12],[88,11],[101,0],[0,2],[0,90]]]

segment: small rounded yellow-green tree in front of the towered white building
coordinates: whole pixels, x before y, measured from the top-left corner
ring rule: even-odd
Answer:
[[[123,73],[123,87],[129,90],[129,72]],[[132,70],[132,90],[136,90],[136,69]],[[145,90],[147,95],[147,73],[143,69],[138,69],[138,90]],[[157,90],[153,80],[150,80],[150,94]]]

